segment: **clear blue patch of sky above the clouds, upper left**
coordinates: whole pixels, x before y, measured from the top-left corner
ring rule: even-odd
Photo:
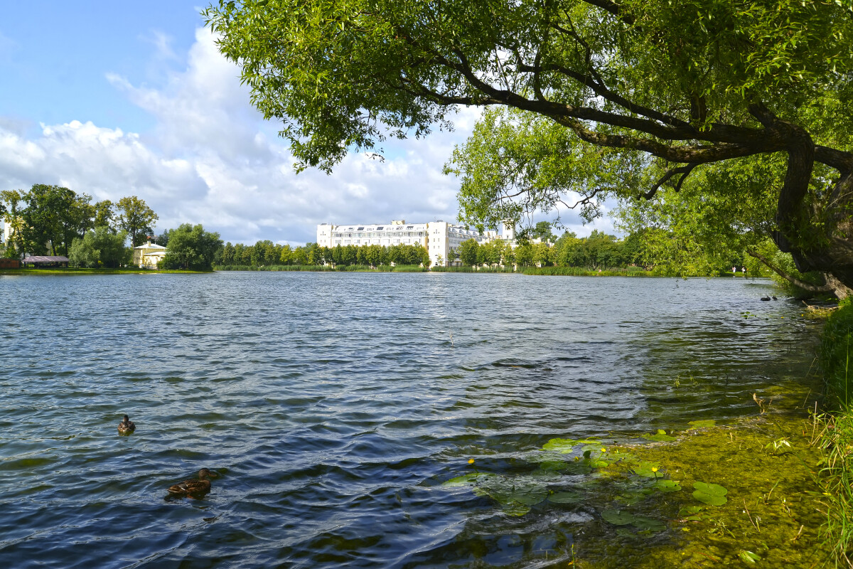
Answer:
[[[198,3],[0,2],[0,113],[32,125],[77,119],[144,131],[153,118],[107,81],[161,84],[203,24]],[[165,53],[164,49],[170,50]]]

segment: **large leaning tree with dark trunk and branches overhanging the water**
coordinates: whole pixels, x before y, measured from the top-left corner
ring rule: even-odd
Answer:
[[[710,165],[749,170],[779,156],[779,183],[752,181],[775,202],[770,233],[800,270],[843,289],[853,287],[851,9],[853,0],[220,0],[206,18],[252,102],[283,122],[300,168],[425,135],[461,105],[548,119],[604,149],[603,166],[646,181],[636,198],[680,189]],[[582,186],[589,202],[598,188]]]

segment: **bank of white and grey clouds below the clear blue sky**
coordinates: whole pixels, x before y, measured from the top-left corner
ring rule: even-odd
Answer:
[[[155,56],[171,54],[165,36],[154,34],[154,44]],[[96,200],[137,195],[160,215],[158,229],[201,223],[226,241],[313,241],[322,222],[456,218],[457,183],[441,168],[478,109],[461,109],[455,132],[389,141],[384,161],[351,154],[331,176],[297,176],[277,125],[249,104],[238,68],[218,53],[211,32],[195,32],[186,61],[180,73],[165,71],[156,89],[107,74],[153,117],[144,133],[69,118],[28,138],[0,120],[0,187],[60,183]]]

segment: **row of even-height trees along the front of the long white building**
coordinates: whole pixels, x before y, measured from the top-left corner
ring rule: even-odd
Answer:
[[[291,247],[272,241],[258,241],[254,245],[230,242],[225,244],[216,259],[216,264],[241,266],[270,265],[321,265],[333,264],[349,266],[355,264],[378,267],[390,264],[424,264],[429,266],[430,258],[426,247],[421,245],[336,245],[320,247],[316,243],[306,243],[304,247]]]

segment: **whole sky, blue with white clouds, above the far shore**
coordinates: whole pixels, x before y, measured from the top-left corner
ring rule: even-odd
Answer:
[[[204,224],[226,241],[314,241],[316,224],[456,219],[441,174],[456,131],[293,173],[278,125],[249,104],[199,3],[0,0],[0,189],[56,183],[96,200],[137,195],[159,230]],[[589,233],[566,216],[579,235]],[[610,229],[609,222],[600,224]]]

